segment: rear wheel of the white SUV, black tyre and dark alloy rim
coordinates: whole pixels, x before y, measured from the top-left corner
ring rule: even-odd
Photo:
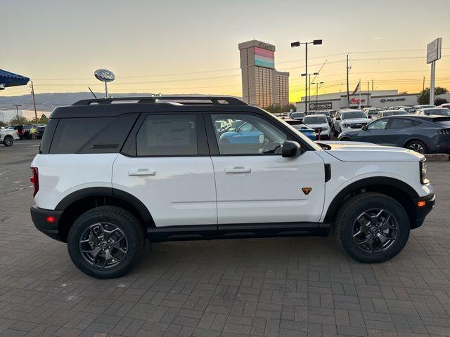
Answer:
[[[141,256],[139,220],[115,206],[99,206],[75,220],[68,236],[72,262],[84,274],[110,279],[127,274]]]

